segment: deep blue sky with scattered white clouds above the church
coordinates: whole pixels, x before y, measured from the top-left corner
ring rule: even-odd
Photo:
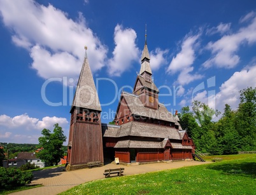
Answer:
[[[255,1],[0,0],[0,142],[38,143],[69,110],[88,46],[102,122],[134,86],[145,24],[159,102],[237,109],[256,86]]]

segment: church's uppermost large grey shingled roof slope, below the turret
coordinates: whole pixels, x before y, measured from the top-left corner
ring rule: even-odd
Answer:
[[[125,98],[125,101],[127,102],[127,105],[132,114],[174,123],[173,115],[166,109],[163,104],[159,104],[159,108],[154,110],[145,107],[139,99],[138,95],[123,92],[122,96]]]

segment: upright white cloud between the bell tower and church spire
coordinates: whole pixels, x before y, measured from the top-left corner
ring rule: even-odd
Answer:
[[[108,61],[108,73],[111,76],[120,76],[131,67],[132,61],[139,60],[139,49],[135,44],[136,32],[133,29],[124,29],[122,25],[115,27],[115,50],[113,57]]]

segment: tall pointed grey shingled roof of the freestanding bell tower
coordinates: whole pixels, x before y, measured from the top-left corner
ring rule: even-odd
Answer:
[[[86,49],[87,48],[85,48],[85,58],[83,60],[82,70],[78,79],[71,110],[73,107],[82,107],[85,109],[101,111],[101,104],[99,103],[99,97],[92,77],[92,71],[90,71]]]

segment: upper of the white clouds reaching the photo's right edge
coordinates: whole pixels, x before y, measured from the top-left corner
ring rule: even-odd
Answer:
[[[230,35],[225,35],[216,42],[210,42],[206,46],[213,55],[210,59],[204,62],[204,67],[209,68],[213,65],[217,67],[225,67],[231,69],[239,63],[237,51],[241,44],[256,43],[256,13],[249,13],[248,17],[244,17],[241,21],[250,20],[250,24],[246,27],[241,27],[238,32]],[[254,18],[252,18],[254,16]]]

